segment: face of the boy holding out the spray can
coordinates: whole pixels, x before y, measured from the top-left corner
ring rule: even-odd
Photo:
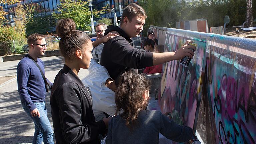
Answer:
[[[143,30],[145,19],[142,17],[134,17],[131,21],[127,20],[126,33],[129,37],[137,37]]]

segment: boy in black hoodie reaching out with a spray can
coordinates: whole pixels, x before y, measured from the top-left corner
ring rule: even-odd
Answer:
[[[120,36],[114,37],[104,44],[101,53],[102,66],[105,66],[109,75],[114,80],[129,68],[141,69],[182,59],[184,56],[193,57],[194,52],[189,48],[187,41],[184,46],[175,52],[153,53],[145,50],[135,49],[132,45],[132,37],[137,37],[143,30],[147,15],[142,7],[135,3],[129,4],[124,10],[121,18],[120,28],[108,26],[105,34],[116,31]],[[196,49],[195,49],[196,50]]]

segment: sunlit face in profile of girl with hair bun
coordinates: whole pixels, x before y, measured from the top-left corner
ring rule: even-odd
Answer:
[[[92,42],[88,41],[88,45],[83,47],[83,58],[82,58],[82,67],[83,69],[88,69],[91,63],[92,58]]]

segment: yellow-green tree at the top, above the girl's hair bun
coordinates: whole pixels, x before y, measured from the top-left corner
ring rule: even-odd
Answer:
[[[76,28],[82,31],[91,30],[91,11],[89,3],[83,0],[60,0],[57,13],[52,13],[57,20],[71,18],[76,24]],[[98,18],[100,11],[93,10],[94,17]]]

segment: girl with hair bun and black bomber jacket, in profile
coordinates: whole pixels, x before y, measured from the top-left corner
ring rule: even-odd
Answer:
[[[61,19],[56,27],[61,37],[60,52],[65,59],[56,75],[51,91],[51,112],[56,143],[99,144],[109,119],[95,122],[90,89],[78,78],[81,68],[87,69],[92,58],[92,42],[72,19]]]

